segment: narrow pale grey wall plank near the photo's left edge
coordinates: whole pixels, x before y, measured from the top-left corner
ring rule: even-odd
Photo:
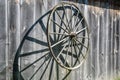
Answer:
[[[6,56],[6,80],[12,79],[11,77],[11,69],[12,69],[12,60],[10,58],[10,40],[9,40],[9,18],[8,18],[8,6],[9,6],[9,1],[5,0],[5,34],[6,34],[6,46],[5,46],[5,56]]]

